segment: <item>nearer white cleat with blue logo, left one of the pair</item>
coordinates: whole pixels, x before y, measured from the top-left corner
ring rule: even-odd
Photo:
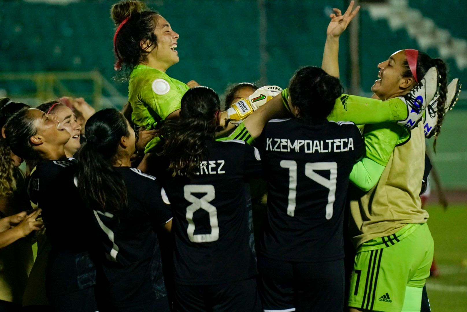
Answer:
[[[405,128],[413,129],[425,113],[428,103],[436,96],[438,91],[438,71],[436,67],[430,68],[418,84],[409,93],[398,99],[407,105],[408,116],[398,123]]]

